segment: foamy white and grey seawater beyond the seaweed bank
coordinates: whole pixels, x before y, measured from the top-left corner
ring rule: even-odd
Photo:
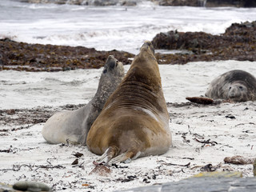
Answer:
[[[222,34],[233,22],[256,20],[254,8],[74,6],[0,1],[0,38],[18,42],[126,50],[169,30]]]

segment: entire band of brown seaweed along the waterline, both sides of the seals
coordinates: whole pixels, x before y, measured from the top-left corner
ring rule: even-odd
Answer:
[[[169,31],[152,41],[156,50],[180,50],[176,54],[157,53],[159,64],[238,60],[256,61],[256,22],[234,23],[221,35],[203,32]],[[59,71],[99,68],[114,55],[124,65],[134,54],[124,51],[98,51],[83,46],[53,46],[0,39],[0,70]]]

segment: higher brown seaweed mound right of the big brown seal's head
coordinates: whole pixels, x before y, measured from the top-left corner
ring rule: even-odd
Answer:
[[[256,22],[234,23],[221,35],[169,31],[157,34],[155,49],[189,50],[191,54],[156,54],[159,64],[213,60],[256,61]]]

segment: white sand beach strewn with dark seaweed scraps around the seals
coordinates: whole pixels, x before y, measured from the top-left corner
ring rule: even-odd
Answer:
[[[58,191],[113,191],[179,181],[198,174],[200,168],[209,163],[218,166],[217,170],[238,170],[242,171],[243,177],[252,177],[252,165],[229,165],[223,159],[234,155],[256,157],[256,102],[222,103],[217,106],[184,102],[187,102],[187,96],[204,94],[210,81],[228,70],[246,70],[255,76],[255,65],[256,62],[226,61],[159,66],[166,102],[177,103],[168,105],[173,145],[166,154],[119,164],[126,168],[110,167],[112,172],[108,176],[89,174],[94,168],[92,162],[98,156],[90,153],[86,146],[46,143],[41,134],[43,123],[8,132],[1,130],[20,125],[0,125],[0,150],[12,150],[0,153],[0,181],[9,184],[21,180],[44,182]],[[126,70],[128,68],[126,66]],[[101,70],[55,74],[0,71],[1,109],[86,103],[97,89],[100,73]],[[10,75],[17,79],[10,80]],[[50,77],[54,79],[52,83],[46,81]],[[74,81],[76,83],[70,83]],[[235,118],[226,118],[226,115],[234,115]],[[210,142],[217,144],[202,146],[194,138],[200,141],[210,139]],[[72,166],[76,159],[72,154],[76,152],[84,155],[78,158],[78,166]],[[188,167],[165,164],[186,165],[189,162]],[[130,176],[135,177],[124,182]]]

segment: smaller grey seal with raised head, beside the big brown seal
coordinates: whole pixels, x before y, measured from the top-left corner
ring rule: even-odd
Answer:
[[[43,138],[54,144],[72,142],[85,145],[90,126],[102,111],[107,98],[122,82],[123,77],[122,62],[118,62],[110,55],[106,60],[94,98],[78,110],[66,110],[50,117],[42,128]]]

